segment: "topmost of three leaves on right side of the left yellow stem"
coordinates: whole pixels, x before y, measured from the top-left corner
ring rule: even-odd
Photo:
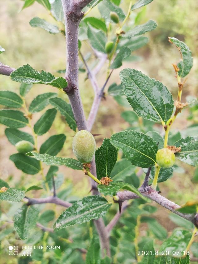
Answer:
[[[43,110],[47,105],[49,105],[49,99],[55,97],[57,93],[43,93],[39,94],[33,99],[29,106],[30,113],[37,113]]]

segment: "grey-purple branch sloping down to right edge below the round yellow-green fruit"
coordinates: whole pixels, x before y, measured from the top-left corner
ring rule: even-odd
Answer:
[[[179,209],[181,206],[161,196],[157,191],[153,190],[150,186],[148,186],[147,189],[140,187],[139,191],[145,197],[148,197],[149,199],[155,201],[156,203],[165,207],[174,214],[178,214],[179,216],[187,219],[188,221],[192,222],[196,227],[198,227],[198,214],[183,214],[180,213],[179,211],[176,211],[176,209]],[[118,192],[116,195],[118,196],[119,199],[118,201],[125,201],[129,199],[139,198],[139,196],[137,196],[135,193],[132,193],[130,191]]]

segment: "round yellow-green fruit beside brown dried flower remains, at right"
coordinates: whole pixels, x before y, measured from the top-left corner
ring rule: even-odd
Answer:
[[[159,149],[156,154],[157,164],[162,168],[170,168],[174,165],[175,155],[170,149]]]

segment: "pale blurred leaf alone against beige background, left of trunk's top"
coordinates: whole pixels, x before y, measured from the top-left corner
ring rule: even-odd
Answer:
[[[56,25],[53,25],[47,22],[45,19],[41,19],[40,17],[34,17],[29,22],[32,28],[42,28],[45,29],[50,34],[58,34],[60,32],[59,28]]]

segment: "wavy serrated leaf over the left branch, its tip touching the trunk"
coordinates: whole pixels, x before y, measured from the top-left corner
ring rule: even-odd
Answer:
[[[10,75],[11,79],[15,82],[23,82],[26,84],[48,84],[57,88],[67,87],[67,82],[64,78],[55,78],[49,72],[46,71],[36,71],[29,64],[23,65],[13,71]]]

